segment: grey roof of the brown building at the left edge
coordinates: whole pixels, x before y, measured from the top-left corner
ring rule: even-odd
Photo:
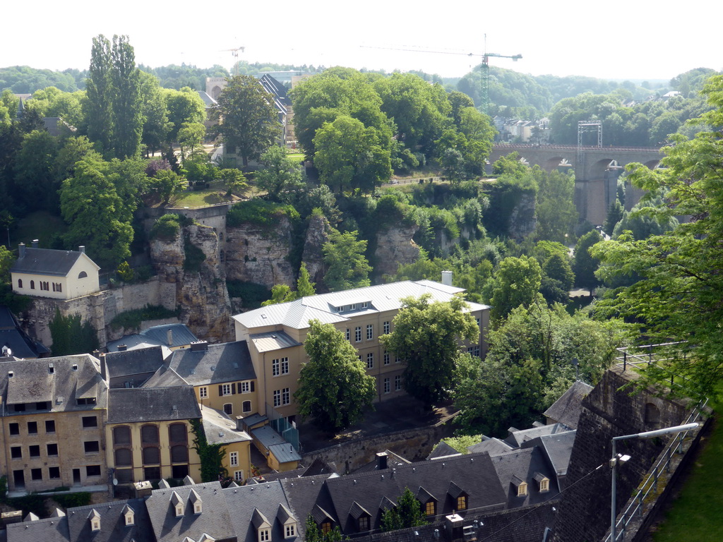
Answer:
[[[93,410],[105,408],[107,389],[100,362],[89,354],[0,361],[0,397],[6,405],[51,401],[53,412]],[[78,405],[80,397],[95,397],[96,404]]]

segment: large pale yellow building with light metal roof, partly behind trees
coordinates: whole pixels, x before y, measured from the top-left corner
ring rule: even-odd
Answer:
[[[425,293],[431,301],[449,301],[463,289],[431,280],[407,280],[308,296],[234,316],[236,340],[247,342],[257,377],[258,412],[270,416],[275,411],[275,416],[294,421],[298,411],[294,392],[301,364],[308,361],[303,343],[312,319],[333,324],[356,348],[367,365],[367,374],[376,379],[377,401],[401,395],[404,366],[384,350],[379,336],[393,330],[402,298],[418,298]],[[463,348],[484,357],[489,306],[468,305],[479,325],[479,340]]]

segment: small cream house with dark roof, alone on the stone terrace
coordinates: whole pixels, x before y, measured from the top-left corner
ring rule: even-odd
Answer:
[[[100,267],[79,250],[38,249],[21,243],[10,269],[12,291],[23,296],[72,299],[100,291]]]

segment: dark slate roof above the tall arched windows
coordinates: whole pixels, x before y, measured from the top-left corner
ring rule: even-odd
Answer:
[[[190,420],[201,417],[192,387],[118,388],[108,391],[108,423]]]

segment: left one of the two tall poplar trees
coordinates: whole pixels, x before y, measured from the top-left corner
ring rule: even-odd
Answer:
[[[111,81],[111,42],[100,34],[93,38],[90,69],[85,81],[87,137],[107,155],[113,140],[113,83]]]

